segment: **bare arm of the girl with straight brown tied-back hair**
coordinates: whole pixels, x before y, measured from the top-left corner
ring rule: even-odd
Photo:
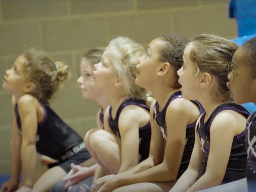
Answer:
[[[190,187],[188,192],[207,189],[221,184],[230,157],[234,136],[244,130],[246,118],[231,111],[220,112],[210,128],[210,152],[206,172]],[[216,167],[218,167],[216,169]]]

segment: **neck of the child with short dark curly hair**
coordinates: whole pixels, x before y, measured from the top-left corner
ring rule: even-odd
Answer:
[[[156,99],[156,101],[159,104],[159,111],[161,111],[164,108],[170,96],[179,90],[180,90],[179,88],[160,87],[160,86],[151,90],[153,97]]]

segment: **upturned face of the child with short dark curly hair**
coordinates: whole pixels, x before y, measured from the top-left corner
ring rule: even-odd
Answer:
[[[156,38],[148,45],[146,54],[138,60],[136,65],[136,84],[150,90],[154,82],[156,81],[158,69],[159,69],[159,50],[164,45],[164,41]]]

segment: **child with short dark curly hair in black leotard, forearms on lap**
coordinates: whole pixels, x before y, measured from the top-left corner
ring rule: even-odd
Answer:
[[[152,138],[149,157],[129,172],[102,178],[95,185],[111,192],[163,192],[170,190],[188,167],[196,120],[204,111],[197,101],[182,98],[177,70],[188,41],[164,35],[148,45],[137,65],[136,84],[150,90],[156,102],[150,108]]]

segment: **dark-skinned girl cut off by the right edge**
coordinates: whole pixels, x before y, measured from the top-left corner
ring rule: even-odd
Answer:
[[[244,43],[236,50],[232,59],[232,71],[228,74],[228,87],[237,104],[256,103],[256,37]],[[246,178],[248,191],[256,191],[256,112],[247,121],[246,149],[247,168]],[[241,185],[241,184],[240,184]],[[243,191],[246,191],[245,189]]]

